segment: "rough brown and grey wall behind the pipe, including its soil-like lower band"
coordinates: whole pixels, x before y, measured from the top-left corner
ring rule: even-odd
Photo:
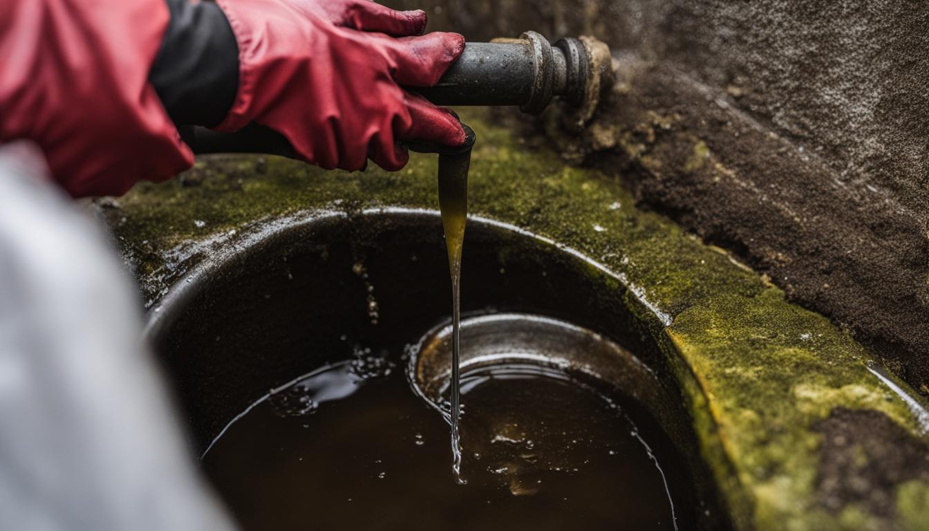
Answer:
[[[590,33],[620,86],[587,164],[767,273],[929,394],[929,4],[393,0],[469,40]],[[571,140],[567,142],[571,144]]]

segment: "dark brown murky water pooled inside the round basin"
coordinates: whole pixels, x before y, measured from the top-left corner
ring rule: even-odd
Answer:
[[[448,424],[402,373],[325,367],[231,423],[203,469],[242,529],[687,528],[692,478],[630,399],[538,368],[465,374],[457,485]]]

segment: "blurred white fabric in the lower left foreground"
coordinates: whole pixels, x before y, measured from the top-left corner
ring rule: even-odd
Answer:
[[[221,531],[103,232],[0,146],[0,529]]]

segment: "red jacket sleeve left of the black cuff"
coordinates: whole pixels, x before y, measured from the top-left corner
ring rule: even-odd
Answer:
[[[168,17],[164,0],[0,1],[0,142],[35,141],[75,197],[190,167],[148,81]]]

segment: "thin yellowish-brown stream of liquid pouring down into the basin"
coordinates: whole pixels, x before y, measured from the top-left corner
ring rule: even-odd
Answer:
[[[472,140],[473,141],[473,140]],[[461,477],[462,449],[459,434],[461,418],[459,357],[461,352],[461,269],[464,225],[467,219],[467,173],[471,164],[471,149],[465,153],[440,153],[438,157],[438,207],[445,232],[445,247],[449,255],[451,274],[451,471],[459,485],[467,483]]]

